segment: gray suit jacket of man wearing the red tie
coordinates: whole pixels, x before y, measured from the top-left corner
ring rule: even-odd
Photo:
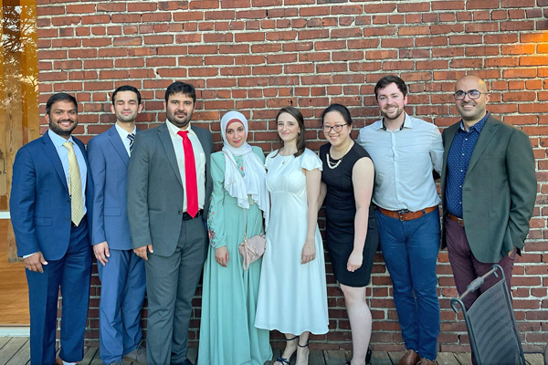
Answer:
[[[205,151],[204,216],[207,216],[213,190],[209,162],[213,140],[209,130],[194,125],[192,129]],[[128,169],[132,248],[152,244],[154,254],[173,255],[181,233],[183,203],[183,183],[167,126],[137,133]]]

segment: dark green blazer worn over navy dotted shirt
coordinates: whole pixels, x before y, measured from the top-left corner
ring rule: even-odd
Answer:
[[[442,133],[445,146],[441,172],[443,215],[447,214],[448,151],[460,122]],[[496,263],[523,248],[536,199],[537,181],[529,137],[492,116],[485,122],[462,185],[466,237],[482,263]],[[442,225],[442,248],[446,244]]]

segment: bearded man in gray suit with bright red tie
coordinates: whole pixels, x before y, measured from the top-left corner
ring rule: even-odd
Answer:
[[[213,189],[209,130],[191,125],[195,89],[165,91],[167,121],[135,135],[128,170],[128,215],[135,254],[146,260],[147,358],[153,365],[190,364],[188,326],[207,233]]]

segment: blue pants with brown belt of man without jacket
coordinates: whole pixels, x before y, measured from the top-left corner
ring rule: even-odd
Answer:
[[[411,221],[400,221],[379,211],[375,214],[406,349],[435,360],[439,334],[439,213],[435,210]]]

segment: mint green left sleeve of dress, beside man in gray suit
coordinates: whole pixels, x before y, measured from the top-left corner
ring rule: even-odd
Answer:
[[[211,155],[211,178],[213,179],[213,193],[209,214],[207,214],[207,227],[209,228],[209,245],[218,248],[227,245],[227,233],[225,231],[225,158],[222,152]]]

